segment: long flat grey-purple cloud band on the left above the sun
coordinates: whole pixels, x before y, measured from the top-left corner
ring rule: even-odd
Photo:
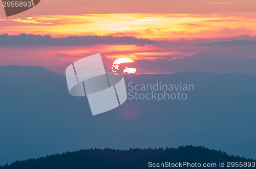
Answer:
[[[67,38],[52,38],[50,35],[0,35],[0,46],[91,46],[91,45],[153,45],[156,41],[137,39],[135,37],[113,36],[69,36]]]

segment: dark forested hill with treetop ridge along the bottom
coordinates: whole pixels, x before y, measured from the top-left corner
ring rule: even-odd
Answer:
[[[241,165],[253,166],[256,160],[229,156],[225,152],[210,150],[201,146],[181,146],[178,149],[87,149],[38,159],[16,161],[0,168],[148,168],[158,164],[161,166],[161,163],[172,166],[172,164],[178,165],[177,163],[183,162],[186,162],[182,165],[183,167],[192,167],[193,165],[203,167],[204,164],[219,167],[220,162],[224,162],[225,167],[227,167],[228,162],[241,162]]]

